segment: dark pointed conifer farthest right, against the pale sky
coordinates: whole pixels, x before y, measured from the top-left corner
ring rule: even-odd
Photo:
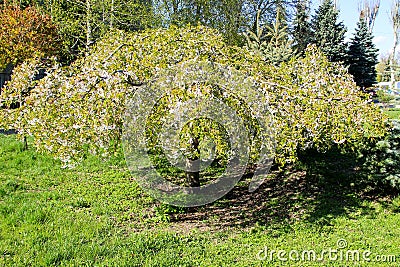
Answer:
[[[357,23],[356,33],[349,44],[347,62],[349,73],[354,76],[357,86],[362,89],[376,83],[375,66],[378,63],[378,49],[372,39],[366,21],[360,19]]]

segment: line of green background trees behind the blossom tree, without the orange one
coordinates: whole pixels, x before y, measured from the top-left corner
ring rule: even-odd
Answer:
[[[4,15],[7,14],[7,9],[18,7],[23,12],[27,7],[35,8],[43,18],[46,18],[47,23],[56,26],[57,37],[51,33],[54,42],[48,40],[47,48],[54,45],[59,60],[64,64],[72,62],[80,53],[87,53],[102,36],[115,29],[136,32],[171,25],[202,24],[217,29],[229,45],[245,45],[255,53],[262,53],[264,59],[271,64],[280,64],[293,56],[302,56],[309,44],[315,44],[330,61],[350,66],[349,71],[355,77],[358,86],[370,87],[376,82],[377,49],[372,43],[371,30],[368,28],[373,27],[377,10],[372,12],[372,15],[370,9],[361,10],[356,34],[347,44],[345,43],[347,29],[344,23],[339,21],[339,10],[334,2],[324,0],[313,15],[310,2],[310,0],[9,0],[0,1],[3,6],[0,22],[4,24],[5,20],[9,20]],[[370,5],[366,4],[365,7]],[[27,25],[32,24],[29,19],[25,20],[28,20]],[[11,44],[7,43],[7,40],[11,38],[4,34],[10,29],[4,26],[2,28],[0,38],[3,36],[4,40],[1,45],[10,47]],[[13,45],[15,43],[18,41],[12,42]],[[27,42],[23,45],[26,46]],[[24,57],[14,58],[11,63],[21,62],[23,59]],[[6,63],[10,62],[2,62],[1,65],[7,65]]]

